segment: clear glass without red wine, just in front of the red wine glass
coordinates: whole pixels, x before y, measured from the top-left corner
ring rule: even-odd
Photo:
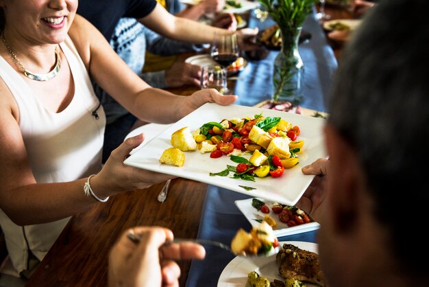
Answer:
[[[208,65],[201,67],[201,89],[217,89],[219,93],[227,94],[227,73],[221,65]]]

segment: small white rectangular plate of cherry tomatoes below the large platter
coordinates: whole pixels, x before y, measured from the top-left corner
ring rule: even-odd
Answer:
[[[256,208],[252,206],[252,199],[253,198],[236,200],[234,203],[241,213],[243,213],[243,215],[247,218],[247,220],[249,220],[252,227],[257,227],[260,225],[257,220],[263,220],[265,214],[260,210],[256,210]],[[264,201],[265,204],[267,204],[269,207],[274,204],[273,201],[264,200],[262,198],[258,199]],[[318,222],[308,222],[303,225],[289,227],[286,225],[286,223],[281,222],[278,218],[278,214],[275,214],[271,209],[269,211],[269,216],[271,216],[277,222],[277,226],[273,227],[273,233],[275,237],[290,236],[292,234],[316,230],[320,227]]]

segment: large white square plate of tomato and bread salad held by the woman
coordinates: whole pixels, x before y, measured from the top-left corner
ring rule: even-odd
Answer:
[[[243,181],[232,179],[230,176],[210,176],[210,172],[221,172],[227,165],[236,165],[229,157],[223,156],[219,159],[211,159],[210,153],[201,154],[199,151],[185,152],[185,163],[181,168],[173,165],[164,165],[159,162],[161,154],[167,148],[171,148],[171,135],[180,128],[188,126],[191,131],[196,130],[207,122],[221,122],[223,119],[234,117],[253,117],[262,113],[268,117],[282,117],[293,125],[299,126],[301,135],[299,139],[304,140],[302,154],[299,154],[299,164],[291,169],[284,170],[284,174],[278,178],[267,176],[256,177],[256,181]],[[234,192],[241,192],[249,196],[269,199],[286,205],[295,205],[302,196],[314,176],[305,175],[301,168],[316,159],[326,158],[326,149],[323,144],[322,127],[325,119],[308,117],[294,113],[285,113],[265,108],[249,106],[220,106],[215,103],[206,103],[197,108],[177,123],[169,126],[163,133],[154,137],[145,146],[136,150],[125,159],[124,163],[136,168],[171,174],[185,179],[192,179],[210,185],[217,185]],[[254,190],[247,190],[252,187]]]

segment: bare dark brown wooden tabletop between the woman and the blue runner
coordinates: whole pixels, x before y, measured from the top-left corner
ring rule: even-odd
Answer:
[[[107,286],[108,253],[121,233],[137,225],[168,227],[177,238],[197,238],[207,185],[173,179],[164,203],[164,183],[112,196],[73,216],[25,286]],[[180,286],[190,261],[179,262]]]

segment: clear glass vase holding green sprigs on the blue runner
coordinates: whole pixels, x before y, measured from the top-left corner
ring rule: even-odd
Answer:
[[[274,103],[291,102],[299,105],[304,98],[304,63],[298,51],[299,35],[302,27],[281,27],[282,49],[274,60],[273,86],[271,101]]]

